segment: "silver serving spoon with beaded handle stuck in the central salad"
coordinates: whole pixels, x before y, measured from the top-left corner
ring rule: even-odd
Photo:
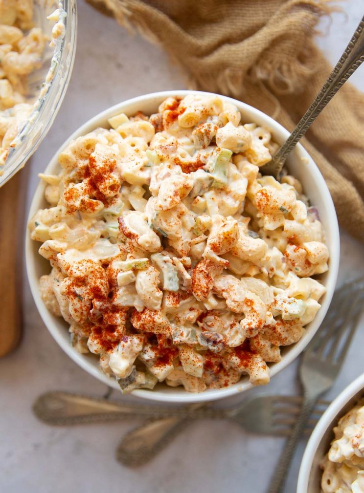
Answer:
[[[316,96],[312,105],[297,123],[288,139],[273,156],[272,161],[260,168],[262,175],[273,175],[279,178],[284,162],[296,143],[305,135],[312,122],[319,116],[337,91],[344,85],[348,78],[364,62],[364,17],[359,23],[340,60],[324,83],[321,91]]]

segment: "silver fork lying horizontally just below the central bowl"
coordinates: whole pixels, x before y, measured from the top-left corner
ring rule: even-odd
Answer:
[[[288,436],[300,412],[301,404],[302,397],[299,396],[261,395],[226,409],[212,408],[208,403],[200,408],[165,407],[136,405],[89,395],[52,391],[38,397],[33,411],[40,421],[52,425],[123,421],[128,417],[229,419],[253,433]],[[328,404],[328,401],[318,403],[314,412],[315,419],[309,423],[310,427],[316,423],[317,416],[324,412]]]

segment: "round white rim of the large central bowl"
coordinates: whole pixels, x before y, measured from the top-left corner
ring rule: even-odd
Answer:
[[[164,99],[168,97],[177,96],[183,98],[187,96],[187,94],[192,94],[192,93],[216,96],[216,94],[214,93],[209,93],[204,91],[169,90],[169,91],[161,91],[151,94],[145,94],[142,96],[137,96],[135,98],[123,101],[115,106],[111,106],[107,108],[106,110],[100,112],[99,114],[88,120],[86,123],[84,123],[78,130],[76,130],[69,137],[69,139],[67,139],[67,141],[65,141],[60,146],[60,148],[57,150],[57,152],[50,160],[47,169],[56,167],[59,153],[62,151],[62,149],[64,149],[68,145],[70,141],[97,128],[101,124],[100,122],[102,120],[107,120],[107,118],[110,118],[111,116],[114,116],[120,112],[124,112],[124,111],[128,112],[125,109],[127,106],[138,104],[140,106],[140,110],[143,111],[143,105],[146,105],[148,103],[149,104],[155,103],[156,107],[158,107],[158,104],[160,104]],[[266,127],[268,127],[269,130],[271,130],[274,133],[275,140],[278,141],[279,143],[285,141],[290,135],[288,130],[286,130],[281,124],[276,122],[273,118],[266,115],[262,111],[254,108],[253,106],[249,106],[245,103],[229,98],[227,96],[222,96],[222,95],[217,95],[217,96],[237,106],[239,108],[239,111],[243,114],[243,116],[245,117],[245,115],[247,115],[249,118],[251,118],[252,122],[264,124]],[[308,152],[303,148],[303,146],[300,143],[296,145],[296,148],[292,151],[291,156],[293,153],[296,153],[297,159],[298,158],[301,159],[302,167],[304,167],[305,170],[309,173],[309,175],[312,177],[312,180],[317,183],[317,186],[320,189],[320,194],[323,198],[323,204],[325,205],[327,217],[329,218],[328,219],[329,228],[327,229],[328,226],[327,224],[324,230],[326,237],[328,233],[331,236],[331,242],[329,243],[329,245],[327,245],[330,254],[329,270],[326,273],[327,276],[325,282],[326,293],[324,295],[324,300],[322,301],[321,309],[319,310],[315,319],[310,324],[310,330],[306,331],[304,336],[295,345],[289,347],[289,349],[283,355],[283,358],[280,362],[270,365],[271,377],[274,377],[277,373],[283,370],[283,368],[285,368],[289,363],[291,363],[304,350],[304,348],[307,346],[307,344],[310,342],[310,340],[312,339],[312,337],[315,335],[316,331],[320,327],[321,322],[323,321],[324,316],[326,315],[326,312],[328,310],[329,304],[332,299],[332,295],[334,293],[338,268],[339,268],[339,256],[340,256],[339,228],[338,228],[336,212],[330,192],[328,191],[327,185],[324,181],[324,177],[321,175],[321,172],[319,171],[317,165],[315,164],[311,156],[308,154]],[[41,200],[43,199],[44,187],[45,184],[41,183],[40,181],[35,191],[35,194],[33,196],[32,204],[28,216],[28,222],[35,214],[35,212],[39,209],[38,204],[40,204]],[[36,256],[33,255],[32,244],[34,244],[34,242],[30,238],[29,229],[27,229],[25,253],[26,253],[28,280],[34,301],[36,303],[40,316],[44,324],[46,325],[48,331],[51,333],[51,335],[53,336],[55,341],[59,344],[59,346],[79,366],[81,366],[81,368],[86,370],[89,374],[93,375],[94,377],[96,377],[98,380],[105,383],[106,385],[120,390],[120,387],[116,379],[108,377],[106,374],[103,373],[101,369],[92,366],[92,364],[89,361],[87,361],[84,355],[74,350],[69,342],[66,343],[64,336],[62,336],[57,330],[57,328],[55,328],[52,320],[54,316],[51,315],[51,313],[46,309],[43,301],[40,298],[39,280],[35,272]],[[222,399],[225,397],[235,395],[252,387],[253,387],[252,384],[250,384],[247,380],[246,381],[244,380],[236,384],[233,384],[230,387],[224,387],[219,389],[207,389],[201,393],[187,392],[184,389],[181,389],[180,387],[173,387],[171,389],[168,388],[168,391],[165,392],[163,392],[162,390],[154,390],[154,389],[153,390],[137,389],[132,391],[132,395],[137,397],[142,397],[144,399],[162,401],[162,402],[193,403],[193,402],[204,402],[204,401]]]

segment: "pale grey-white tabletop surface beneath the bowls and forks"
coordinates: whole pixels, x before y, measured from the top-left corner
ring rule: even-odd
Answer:
[[[336,62],[363,15],[361,2],[345,2],[347,15],[323,21],[318,42]],[[162,51],[130,37],[111,20],[79,2],[79,40],[75,69],[63,106],[32,160],[30,197],[58,146],[102,109],[139,94],[185,88],[183,77]],[[363,70],[353,81],[364,90]],[[339,282],[364,273],[364,246],[342,235]],[[7,493],[263,493],[283,448],[283,440],[249,434],[228,422],[198,422],[153,462],[139,469],[121,467],[114,451],[137,421],[74,427],[38,422],[31,406],[46,390],[65,389],[103,395],[106,387],[81,370],[53,341],[24,287],[25,327],[19,349],[0,360],[0,491]],[[6,309],[6,308],[5,308]],[[364,371],[364,319],[343,371],[328,393],[332,398]],[[255,391],[255,390],[254,390]],[[261,390],[259,390],[261,391]],[[296,364],[276,376],[264,391],[298,392]],[[114,396],[116,394],[114,393]],[[304,443],[294,458],[286,492],[293,493]]]

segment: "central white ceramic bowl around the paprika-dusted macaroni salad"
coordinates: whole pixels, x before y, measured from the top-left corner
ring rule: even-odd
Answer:
[[[68,143],[76,139],[77,137],[91,132],[97,127],[108,128],[108,118],[124,112],[127,115],[133,115],[136,111],[143,111],[145,114],[152,114],[157,112],[157,108],[160,103],[169,96],[184,97],[193,91],[163,91],[154,94],[147,94],[139,96],[131,100],[120,103],[113,106],[102,113],[98,114],[82,127],[77,130],[68,141],[66,141],[61,148],[56,152],[51,162],[46,168],[45,173],[57,173],[59,165],[57,163],[57,157],[62,149],[64,149]],[[205,93],[208,94],[208,93]],[[261,111],[245,105],[240,101],[233,100],[231,98],[223,97],[223,99],[235,104],[242,113],[242,120],[244,122],[255,122],[259,125],[265,125],[270,129],[275,141],[283,143],[289,135],[289,132],[285,130],[275,120],[262,113]],[[326,234],[326,243],[330,253],[329,270],[324,274],[322,281],[326,287],[326,294],[322,299],[322,307],[315,317],[314,321],[307,326],[307,331],[303,338],[290,347],[283,348],[282,360],[279,363],[271,365],[271,375],[274,377],[278,372],[283,370],[294,358],[298,356],[300,352],[306,347],[309,341],[314,336],[315,332],[319,328],[328,306],[330,304],[338,271],[339,264],[339,231],[335,209],[332,203],[330,193],[327,189],[326,183],[319,169],[315,165],[312,158],[305,151],[305,149],[298,144],[294,151],[289,156],[287,161],[288,167],[292,174],[296,176],[302,183],[306,195],[310,198],[313,205],[315,205],[320,213],[320,218],[324,226]],[[33,198],[31,209],[29,212],[29,218],[31,218],[36,211],[40,208],[47,207],[46,201],[43,196],[44,183],[40,183]],[[85,355],[76,352],[70,343],[70,336],[67,331],[66,322],[58,317],[53,316],[45,308],[39,293],[39,278],[41,275],[49,272],[49,263],[38,254],[40,244],[30,239],[30,234],[27,232],[26,239],[26,263],[27,272],[29,277],[30,286],[34,296],[34,300],[40,312],[40,315],[47,326],[49,332],[54,339],[58,342],[61,348],[78,363],[81,368],[88,373],[98,378],[107,385],[114,388],[119,388],[116,380],[106,376],[98,365],[98,358],[93,355]],[[182,387],[168,387],[166,385],[158,384],[154,390],[140,389],[134,390],[133,395],[144,397],[146,399],[165,401],[165,402],[201,402],[206,400],[215,400],[222,397],[227,397],[243,390],[247,390],[252,387],[249,384],[248,379],[244,377],[237,384],[231,387],[221,389],[211,389],[205,392],[194,394],[186,392]]]

